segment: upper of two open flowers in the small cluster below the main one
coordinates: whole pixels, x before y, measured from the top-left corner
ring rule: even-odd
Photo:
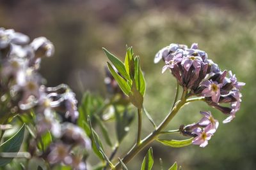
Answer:
[[[216,132],[219,122],[212,117],[211,111],[200,111],[200,113],[204,115],[204,117],[199,121],[198,124],[209,128],[208,132],[211,134]]]

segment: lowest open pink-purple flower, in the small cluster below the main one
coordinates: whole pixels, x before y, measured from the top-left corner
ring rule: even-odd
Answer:
[[[208,145],[208,141],[212,137],[212,133],[209,130],[211,130],[209,127],[205,127],[203,130],[200,127],[196,128],[194,132],[197,136],[193,139],[192,143],[200,145],[202,148]]]

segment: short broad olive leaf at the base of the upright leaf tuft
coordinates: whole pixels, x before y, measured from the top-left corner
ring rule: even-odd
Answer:
[[[140,92],[136,89],[136,85],[134,82],[132,82],[132,89],[129,94],[129,99],[131,103],[138,109],[142,108],[143,105],[143,96],[140,94]]]

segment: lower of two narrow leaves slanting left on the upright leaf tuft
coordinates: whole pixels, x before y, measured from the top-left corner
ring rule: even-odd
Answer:
[[[122,78],[116,73],[115,69],[113,69],[113,67],[111,66],[111,64],[109,64],[109,62],[108,62],[108,68],[112,76],[117,81],[120,89],[124,92],[124,94],[128,96],[131,91],[131,87],[129,87],[128,83],[124,80],[124,78]]]

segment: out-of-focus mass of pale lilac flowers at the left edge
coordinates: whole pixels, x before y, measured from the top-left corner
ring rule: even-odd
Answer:
[[[50,164],[63,162],[74,169],[86,169],[81,150],[90,148],[90,140],[75,123],[79,116],[74,92],[64,84],[45,87],[38,73],[41,59],[51,57],[54,46],[44,37],[29,37],[13,29],[0,28],[0,124],[8,124],[16,115],[34,113],[35,139],[31,155],[44,157]],[[34,145],[51,132],[52,143],[38,152]],[[82,155],[82,156],[81,156]]]

